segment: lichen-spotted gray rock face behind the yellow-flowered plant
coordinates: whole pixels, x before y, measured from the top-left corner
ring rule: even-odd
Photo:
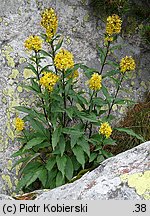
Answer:
[[[19,170],[19,167],[12,170],[15,161],[11,154],[19,147],[15,142],[13,119],[16,111],[13,106],[30,105],[29,95],[17,86],[27,78],[24,71],[28,59],[25,39],[41,32],[41,10],[54,7],[59,19],[58,32],[65,38],[63,46],[73,52],[76,63],[83,62],[99,69],[96,43],[102,45],[105,24],[102,20],[97,22],[92,15],[89,1],[0,0],[0,6],[0,193],[13,194]],[[120,60],[125,55],[133,55],[136,59],[136,72],[129,74],[129,80],[124,84],[126,93],[120,95],[136,101],[150,89],[149,53],[141,51],[140,43],[138,34],[126,40],[119,37],[117,44],[123,47],[112,56]],[[81,86],[84,86],[82,74],[80,78]],[[114,87],[111,92],[114,93]],[[116,107],[115,111],[119,119],[122,110]]]

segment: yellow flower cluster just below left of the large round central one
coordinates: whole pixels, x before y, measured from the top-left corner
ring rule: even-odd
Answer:
[[[59,76],[56,74],[52,72],[43,72],[43,76],[40,78],[40,84],[52,92],[58,80]]]

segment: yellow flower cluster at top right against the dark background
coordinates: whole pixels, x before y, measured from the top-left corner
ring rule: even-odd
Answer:
[[[119,34],[121,31],[121,19],[118,15],[114,14],[107,18],[106,33],[108,35]]]

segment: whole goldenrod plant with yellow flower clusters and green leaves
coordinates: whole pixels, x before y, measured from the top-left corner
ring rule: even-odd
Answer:
[[[55,188],[98,166],[112,156],[104,149],[107,144],[115,144],[112,130],[126,132],[143,141],[133,131],[113,129],[111,124],[113,105],[128,102],[117,98],[124,77],[128,71],[135,70],[135,61],[130,56],[121,59],[120,64],[107,59],[115,48],[121,23],[118,15],[108,17],[104,47],[98,46],[101,69],[97,71],[75,64],[73,54],[62,48],[54,9],[46,9],[41,14],[45,32],[41,36],[29,36],[24,44],[31,51],[27,68],[34,73],[30,85],[24,88],[35,94],[38,105],[35,102],[34,107],[15,107],[25,113],[23,119],[16,119],[20,149],[13,157],[19,156],[15,165],[22,164],[17,190]],[[48,51],[42,49],[43,43],[47,44]],[[42,67],[41,60],[45,58],[49,62]],[[113,69],[103,74],[106,64],[113,65]],[[78,84],[80,73],[86,77],[85,89]],[[104,84],[106,78],[116,85],[113,95]]]

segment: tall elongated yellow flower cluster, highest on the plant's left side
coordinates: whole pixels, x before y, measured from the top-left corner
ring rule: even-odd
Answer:
[[[41,17],[41,26],[46,29],[47,41],[51,41],[58,27],[57,15],[53,8],[49,8],[43,11]]]

